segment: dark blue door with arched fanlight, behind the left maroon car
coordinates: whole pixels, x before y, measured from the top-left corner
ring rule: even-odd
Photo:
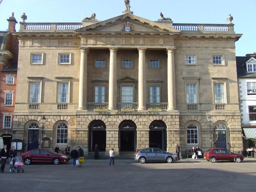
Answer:
[[[37,149],[39,145],[39,126],[31,123],[27,130],[27,151]]]

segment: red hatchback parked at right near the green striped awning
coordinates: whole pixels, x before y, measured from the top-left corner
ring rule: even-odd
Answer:
[[[212,163],[215,163],[216,161],[235,161],[240,163],[243,160],[243,155],[232,153],[223,148],[213,148],[203,153],[203,158]]]

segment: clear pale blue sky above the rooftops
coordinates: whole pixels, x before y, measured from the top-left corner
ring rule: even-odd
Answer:
[[[130,0],[130,6],[136,16],[157,21],[161,11],[173,23],[227,24],[226,18],[231,14],[235,33],[243,34],[235,43],[236,56],[256,52],[255,0]],[[26,13],[28,23],[50,23],[81,22],[92,13],[98,21],[104,21],[124,10],[124,0],[2,0],[0,31],[8,29],[6,19],[12,12],[18,22]]]

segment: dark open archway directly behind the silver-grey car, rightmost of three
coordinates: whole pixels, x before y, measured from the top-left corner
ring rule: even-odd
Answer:
[[[149,147],[166,151],[166,125],[161,120],[155,120],[149,126]]]

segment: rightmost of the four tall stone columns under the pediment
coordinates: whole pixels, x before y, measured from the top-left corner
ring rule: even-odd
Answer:
[[[175,88],[175,65],[174,49],[167,49],[167,83],[168,83],[168,109],[167,111],[176,110],[176,88]]]

